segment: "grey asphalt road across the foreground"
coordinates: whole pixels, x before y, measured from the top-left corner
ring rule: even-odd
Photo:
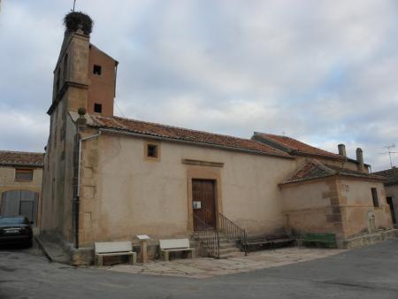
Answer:
[[[333,257],[181,279],[49,263],[37,249],[0,250],[0,298],[398,298],[398,239]]]

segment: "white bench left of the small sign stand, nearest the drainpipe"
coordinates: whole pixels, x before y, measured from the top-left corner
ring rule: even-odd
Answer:
[[[103,257],[129,256],[129,263],[137,262],[137,253],[133,252],[131,242],[95,242],[96,265],[103,265]]]

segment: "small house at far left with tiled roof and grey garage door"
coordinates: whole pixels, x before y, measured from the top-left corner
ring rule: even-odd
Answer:
[[[42,153],[0,150],[0,215],[24,215],[40,224]]]

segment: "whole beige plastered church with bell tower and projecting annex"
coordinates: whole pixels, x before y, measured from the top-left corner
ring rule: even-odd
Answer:
[[[116,117],[117,65],[89,35],[66,30],[48,111],[43,232],[90,249],[136,234],[189,237],[203,222],[217,230],[225,217],[249,234],[329,232],[340,241],[392,227],[383,179],[367,172],[362,155],[351,160],[304,143],[317,153],[300,155],[256,134]],[[315,168],[320,177],[308,174]]]

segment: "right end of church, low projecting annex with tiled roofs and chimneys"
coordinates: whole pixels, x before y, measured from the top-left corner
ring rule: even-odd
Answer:
[[[295,173],[280,182],[286,227],[294,232],[334,232],[348,240],[379,228],[391,228],[385,178],[369,173],[362,149],[356,160],[311,147],[287,136],[255,133],[264,142],[296,157]]]

